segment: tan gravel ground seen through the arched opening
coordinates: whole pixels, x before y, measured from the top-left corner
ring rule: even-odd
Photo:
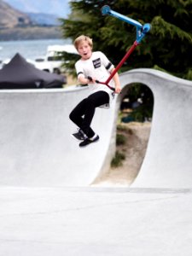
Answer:
[[[99,186],[129,186],[137,177],[142,166],[148,146],[151,123],[121,123],[117,131],[125,137],[125,144],[117,146],[116,150],[125,155],[121,166],[111,167],[102,177],[96,179],[94,185]]]

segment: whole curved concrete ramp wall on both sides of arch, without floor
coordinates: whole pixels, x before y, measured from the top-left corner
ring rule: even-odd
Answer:
[[[115,149],[117,109],[129,84],[154,93],[146,157],[134,187],[191,188],[192,82],[152,69],[120,76],[123,93],[110,109],[96,109],[100,142],[79,148],[68,119],[87,88],[0,91],[0,185],[86,186],[108,170]]]

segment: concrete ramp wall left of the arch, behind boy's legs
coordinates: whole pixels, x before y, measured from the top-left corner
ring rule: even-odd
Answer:
[[[71,137],[76,127],[68,115],[88,92],[0,91],[0,185],[85,186],[108,168],[115,104],[96,111],[92,127],[100,143],[79,148]]]

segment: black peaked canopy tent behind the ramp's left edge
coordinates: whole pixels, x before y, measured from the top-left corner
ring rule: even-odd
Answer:
[[[0,89],[61,88],[66,78],[34,67],[17,53],[0,70]]]

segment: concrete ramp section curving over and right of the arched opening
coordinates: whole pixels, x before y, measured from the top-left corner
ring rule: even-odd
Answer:
[[[154,114],[143,166],[132,187],[192,187],[192,82],[151,69],[121,76],[153,91]]]

